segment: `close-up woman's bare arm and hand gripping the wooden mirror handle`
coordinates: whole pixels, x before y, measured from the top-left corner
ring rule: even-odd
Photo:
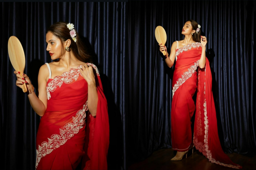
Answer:
[[[40,67],[39,74],[38,74],[38,92],[39,92],[38,97],[36,96],[35,92],[32,91],[31,94],[28,94],[28,91],[27,91],[29,102],[32,108],[34,109],[34,111],[39,116],[43,116],[47,108],[47,92],[46,92],[46,73],[47,72],[48,72],[48,69],[46,65],[43,65]],[[16,85],[27,82],[26,83],[27,88],[31,89],[32,87],[31,81],[29,80],[29,77],[26,74],[23,75],[24,77],[24,80],[23,80],[22,79],[23,77],[18,74],[18,71],[15,71],[14,73],[17,76]]]

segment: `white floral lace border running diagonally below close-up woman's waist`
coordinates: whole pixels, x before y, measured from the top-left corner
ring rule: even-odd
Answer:
[[[41,143],[41,146],[38,145],[38,150],[36,150],[36,168],[42,157],[45,157],[47,154],[50,154],[54,149],[59,148],[61,145],[64,145],[66,141],[77,134],[79,130],[85,124],[87,102],[83,105],[83,109],[79,110],[76,114],[76,117],[73,117],[73,123],[67,123],[63,129],[60,129],[60,135],[53,134],[51,138],[48,138],[48,142],[44,141]]]

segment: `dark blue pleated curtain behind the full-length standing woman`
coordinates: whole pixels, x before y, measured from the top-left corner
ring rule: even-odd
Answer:
[[[189,19],[197,21],[207,37],[206,56],[212,67],[212,90],[223,150],[255,154],[255,7],[255,1],[129,3],[126,72],[130,94],[125,139],[130,163],[145,159],[159,148],[172,147],[174,67],[167,67],[154,34],[161,25],[170,50],[174,41],[183,40],[182,27]]]

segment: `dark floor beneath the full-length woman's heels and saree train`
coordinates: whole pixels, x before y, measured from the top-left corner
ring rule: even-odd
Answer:
[[[229,158],[234,162],[241,166],[243,166],[243,170],[246,169],[256,169],[256,156],[253,158],[243,156],[237,153],[229,153],[227,154]],[[174,157],[174,153],[172,149],[161,149],[155,151],[150,157],[142,162],[138,162],[132,164],[128,169],[145,169],[145,170],[153,170],[153,169],[196,169],[196,170],[222,170],[222,169],[233,169],[221,165],[217,165],[215,163],[209,162],[209,160],[198,150],[195,150],[192,155],[192,150],[188,152],[188,158],[186,156],[183,157],[182,161],[170,161]]]

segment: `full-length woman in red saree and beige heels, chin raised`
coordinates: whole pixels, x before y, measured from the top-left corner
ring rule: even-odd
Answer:
[[[177,150],[172,161],[182,160],[184,154],[195,145],[209,161],[232,168],[242,168],[233,163],[223,152],[217,129],[217,119],[211,90],[211,70],[205,56],[206,37],[201,36],[200,25],[194,20],[187,21],[182,30],[184,40],[172,44],[170,56],[167,49],[159,44],[160,51],[166,51],[165,62],[172,67],[173,100],[171,110],[172,146]],[[199,68],[198,68],[199,67]],[[197,90],[196,106],[192,99]],[[191,117],[195,115],[192,141]],[[194,144],[193,144],[194,143]]]

